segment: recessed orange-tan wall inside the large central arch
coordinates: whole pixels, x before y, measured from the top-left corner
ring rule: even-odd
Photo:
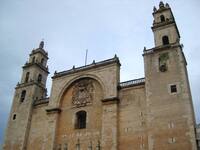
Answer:
[[[60,99],[56,147],[75,149],[80,144],[88,149],[91,139],[101,139],[102,99],[102,85],[96,79],[79,78],[66,87]]]

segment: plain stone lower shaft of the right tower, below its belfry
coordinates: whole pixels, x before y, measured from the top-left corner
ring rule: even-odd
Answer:
[[[169,55],[165,72],[159,69],[163,53]],[[180,47],[154,50],[144,62],[149,150],[195,150],[194,110]],[[176,92],[171,85],[176,85]]]

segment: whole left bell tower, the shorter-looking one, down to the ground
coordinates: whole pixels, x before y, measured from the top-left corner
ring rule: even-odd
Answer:
[[[22,67],[22,78],[15,88],[10,117],[4,139],[3,149],[26,149],[32,117],[32,107],[36,100],[46,97],[48,54],[44,42],[32,50],[28,62]]]

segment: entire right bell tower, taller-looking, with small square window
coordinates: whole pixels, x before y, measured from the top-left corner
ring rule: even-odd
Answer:
[[[155,47],[143,53],[148,149],[196,150],[187,62],[169,4],[154,7],[153,18]]]

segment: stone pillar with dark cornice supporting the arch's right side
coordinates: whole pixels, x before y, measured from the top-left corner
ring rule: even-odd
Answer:
[[[102,150],[117,150],[118,101],[117,97],[102,100]]]

